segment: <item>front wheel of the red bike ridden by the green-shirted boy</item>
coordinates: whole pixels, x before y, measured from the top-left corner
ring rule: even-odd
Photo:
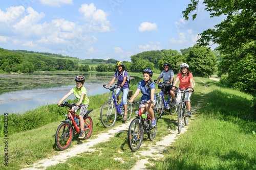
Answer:
[[[73,139],[73,129],[69,128],[69,123],[63,122],[57,128],[55,134],[55,143],[59,150],[63,151],[69,148]]]

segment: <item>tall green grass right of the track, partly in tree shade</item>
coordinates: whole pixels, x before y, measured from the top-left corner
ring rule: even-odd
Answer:
[[[152,169],[256,169],[252,96],[214,85],[207,88],[211,92],[204,94],[196,120]]]

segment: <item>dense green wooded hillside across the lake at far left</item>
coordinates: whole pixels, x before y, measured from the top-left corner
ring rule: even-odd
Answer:
[[[18,54],[0,48],[0,72],[73,71],[78,69],[78,63],[72,60],[55,59],[28,53]]]

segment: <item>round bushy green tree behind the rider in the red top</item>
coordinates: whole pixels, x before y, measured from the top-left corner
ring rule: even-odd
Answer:
[[[194,76],[208,77],[216,70],[216,56],[210,48],[194,45],[189,51],[187,64]]]

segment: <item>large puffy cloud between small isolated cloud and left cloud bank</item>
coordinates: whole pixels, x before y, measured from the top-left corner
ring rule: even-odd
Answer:
[[[82,4],[78,10],[83,15],[83,21],[86,22],[85,26],[90,31],[108,32],[110,31],[110,21],[107,19],[108,13],[103,10],[96,10],[93,3],[90,5]]]

